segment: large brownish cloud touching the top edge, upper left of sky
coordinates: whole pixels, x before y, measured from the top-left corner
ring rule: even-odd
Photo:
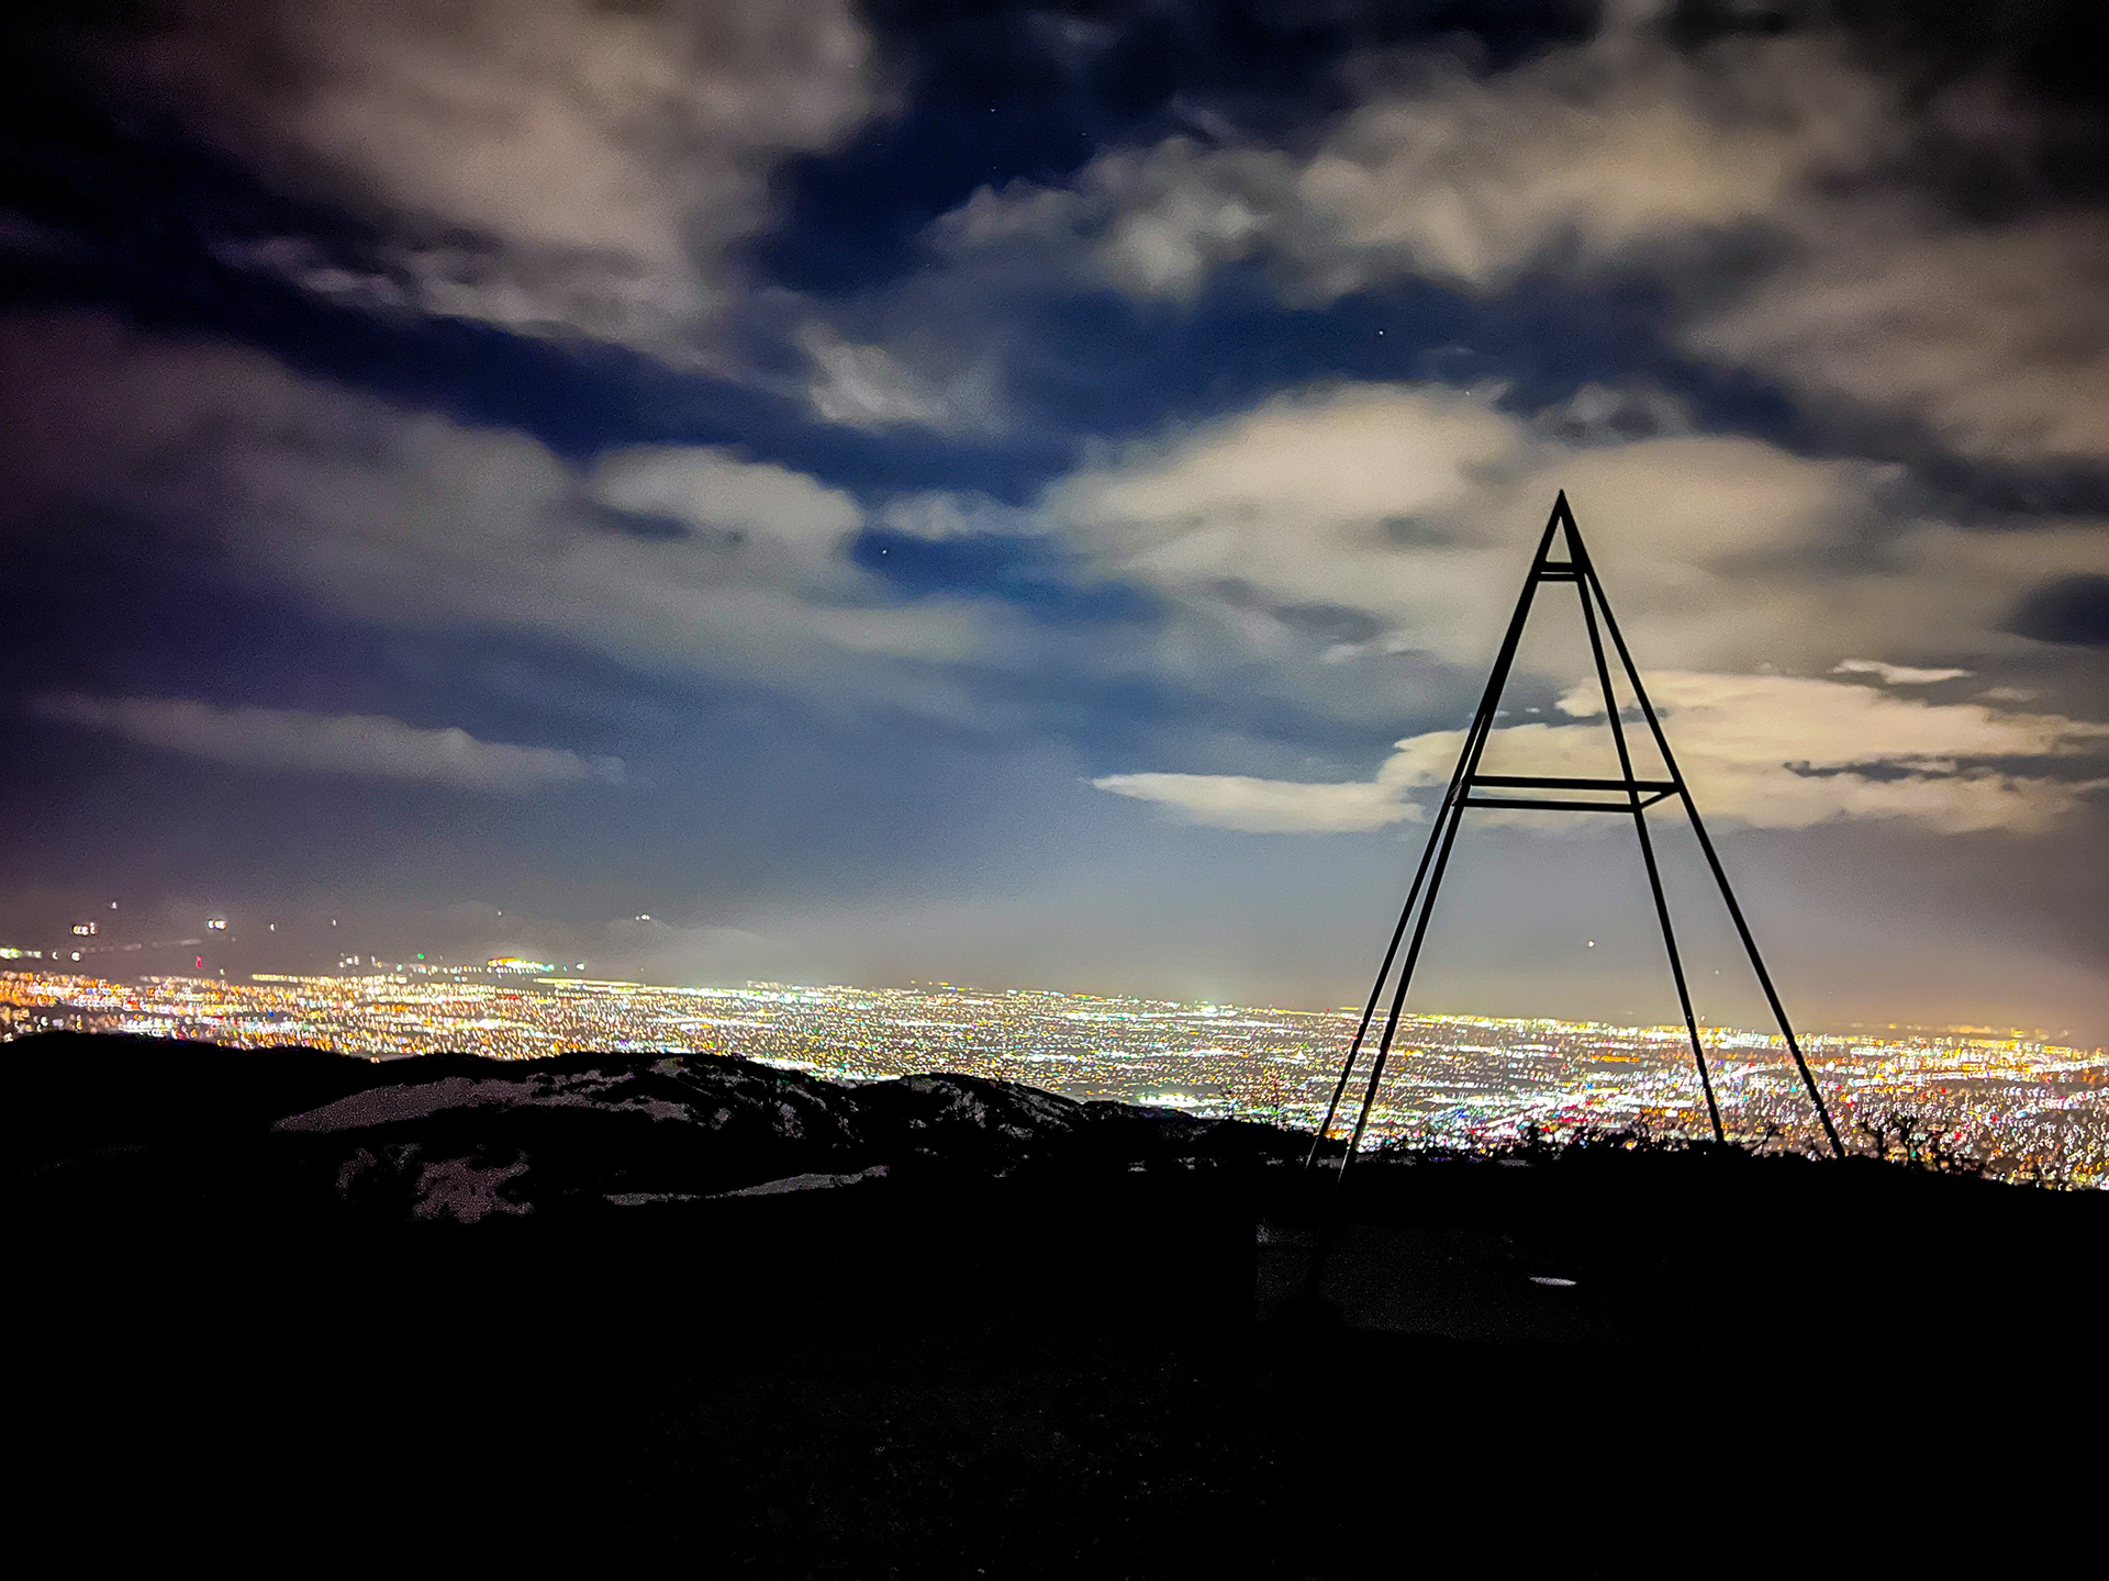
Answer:
[[[293,190],[394,234],[388,276],[257,249],[325,295],[658,337],[717,306],[787,154],[884,103],[841,0],[361,0],[173,8],[105,65]]]

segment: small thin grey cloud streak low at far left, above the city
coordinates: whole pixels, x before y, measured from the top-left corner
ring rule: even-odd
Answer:
[[[453,790],[523,793],[557,784],[622,784],[612,757],[485,742],[466,729],[426,729],[382,715],[293,708],[215,708],[181,698],[36,698],[40,719],[99,729],[171,753],[255,769],[415,780]]]

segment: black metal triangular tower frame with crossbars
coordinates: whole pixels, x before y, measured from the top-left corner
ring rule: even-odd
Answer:
[[[1556,542],[1565,544],[1565,559],[1554,559]],[[1537,588],[1546,582],[1571,582],[1582,599],[1582,626],[1588,632],[1590,656],[1597,664],[1597,685],[1603,689],[1605,719],[1611,727],[1611,742],[1618,748],[1620,778],[1615,780],[1586,780],[1544,774],[1483,774],[1478,767],[1487,753],[1487,740],[1493,734],[1493,721],[1502,704],[1502,694],[1508,689],[1508,675],[1516,662],[1516,647],[1523,641],[1525,624],[1529,624],[1533,599],[1537,597]],[[1611,689],[1611,664],[1605,653],[1605,637],[1611,639],[1611,651],[1618,656],[1626,683],[1639,702],[1641,717],[1647,721],[1647,731],[1653,736],[1656,750],[1662,755],[1662,765],[1668,772],[1666,780],[1643,780],[1632,772],[1632,748],[1626,742],[1626,723],[1622,719],[1618,694]],[[1487,790],[1493,790],[1495,795],[1487,795]],[[1556,795],[1518,797],[1514,795],[1516,790],[1550,790]],[[1780,993],[1772,984],[1772,974],[1765,970],[1765,957],[1759,955],[1757,938],[1750,934],[1750,923],[1742,915],[1736,890],[1727,881],[1727,868],[1721,866],[1721,856],[1715,852],[1715,843],[1706,835],[1706,822],[1700,818],[1698,803],[1691,799],[1691,786],[1677,767],[1677,755],[1670,750],[1670,738],[1664,734],[1656,704],[1649,700],[1647,687],[1641,683],[1641,670],[1634,666],[1632,653],[1626,647],[1626,637],[1620,632],[1618,618],[1611,613],[1611,601],[1605,597],[1603,582],[1597,575],[1597,565],[1590,561],[1588,548],[1582,544],[1582,531],[1575,527],[1573,510],[1567,506],[1567,491],[1561,489],[1559,497],[1552,502],[1552,514],[1546,521],[1546,531],[1537,540],[1537,554],[1531,557],[1529,575],[1523,580],[1516,611],[1508,620],[1508,635],[1502,637],[1493,670],[1487,675],[1487,691],[1481,696],[1478,713],[1472,715],[1472,725],[1466,729],[1464,748],[1457,753],[1457,767],[1451,769],[1449,788],[1443,793],[1443,801],[1436,807],[1434,824],[1428,831],[1428,843],[1421,847],[1421,860],[1413,873],[1413,885],[1407,890],[1407,904],[1398,913],[1398,925],[1392,930],[1392,942],[1384,951],[1384,963],[1377,968],[1377,982],[1369,991],[1369,1003],[1362,1008],[1362,1022],[1356,1027],[1354,1041],[1348,1046],[1348,1060],[1341,1065],[1339,1081],[1333,1084],[1333,1100],[1327,1105],[1324,1124],[1312,1138],[1308,1164],[1316,1164],[1327,1138],[1333,1132],[1333,1121],[1339,1117],[1341,1100],[1348,1096],[1348,1088],[1354,1081],[1356,1065],[1360,1065],[1369,1046],[1369,1029],[1377,1018],[1377,1006],[1384,1003],[1386,984],[1396,976],[1396,987],[1392,989],[1390,1006],[1384,1014],[1384,1027],[1377,1037],[1375,1058],[1369,1062],[1369,1077],[1356,1107],[1354,1132],[1348,1138],[1341,1170],[1348,1168],[1362,1147],[1362,1134],[1369,1130],[1369,1115],[1377,1102],[1377,1088],[1384,1084],[1384,1067],[1392,1056],[1392,1039],[1398,1035],[1398,1018],[1407,1006],[1407,991],[1413,987],[1413,968],[1421,959],[1421,942],[1428,936],[1428,919],[1434,915],[1436,892],[1443,887],[1443,875],[1449,868],[1451,850],[1457,843],[1457,828],[1464,824],[1464,816],[1472,807],[1618,812],[1632,818],[1634,835],[1639,835],[1641,841],[1641,860],[1647,866],[1647,887],[1656,898],[1656,919],[1662,923],[1662,944],[1670,959],[1670,978],[1677,984],[1677,1003],[1683,1010],[1685,1033],[1691,1039],[1691,1062],[1700,1073],[1700,1090],[1706,1094],[1706,1115],[1713,1121],[1715,1140],[1725,1140],[1725,1132],[1721,1130],[1721,1105],[1715,1096],[1713,1073],[1706,1069],[1706,1046],[1700,1039],[1698,1018],[1691,1014],[1691,989],[1685,982],[1685,963],[1681,951],[1677,949],[1677,930],[1670,923],[1670,902],[1662,892],[1656,845],[1647,833],[1647,809],[1660,801],[1668,801],[1670,797],[1683,803],[1685,818],[1691,822],[1691,833],[1698,835],[1700,850],[1706,854],[1706,866],[1713,871],[1715,883],[1721,887],[1721,900],[1727,904],[1727,915],[1736,923],[1736,934],[1742,938],[1742,949],[1750,957],[1750,970],[1757,974],[1757,982],[1765,991],[1765,1003],[1772,1006],[1772,1018],[1778,1024],[1780,1035],[1786,1039],[1786,1052],[1795,1058],[1795,1069],[1801,1073],[1801,1084],[1807,1088],[1810,1102],[1816,1105],[1816,1117],[1822,1121],[1824,1136],[1831,1140],[1831,1151],[1837,1157],[1845,1157],[1845,1145],[1839,1140],[1837,1126],[1831,1121],[1831,1111],[1824,1107],[1824,1096],[1816,1088],[1816,1077],[1810,1075],[1810,1062],[1801,1056],[1801,1043],[1786,1018],[1786,1008],[1780,1003]],[[1398,957],[1398,946],[1402,942],[1407,944],[1405,961]]]

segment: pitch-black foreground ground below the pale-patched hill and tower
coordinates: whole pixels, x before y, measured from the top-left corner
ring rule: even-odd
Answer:
[[[112,1157],[6,1197],[6,1533],[53,1570],[2101,1568],[2098,1193],[1367,1168],[1333,1328],[1263,1164],[453,1223]]]

